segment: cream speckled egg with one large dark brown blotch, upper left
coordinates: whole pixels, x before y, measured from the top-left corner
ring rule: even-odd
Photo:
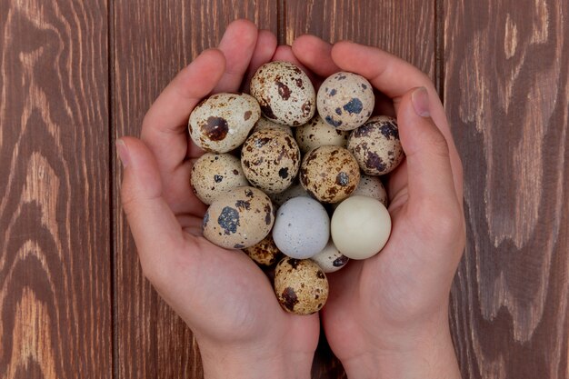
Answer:
[[[205,151],[227,153],[243,144],[260,116],[259,104],[251,95],[211,95],[192,111],[190,136]]]

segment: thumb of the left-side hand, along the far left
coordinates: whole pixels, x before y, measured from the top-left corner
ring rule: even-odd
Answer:
[[[123,162],[121,202],[135,238],[145,276],[166,277],[184,243],[182,228],[162,197],[162,182],[154,155],[134,137],[116,141],[117,153]],[[155,276],[155,275],[159,276]]]

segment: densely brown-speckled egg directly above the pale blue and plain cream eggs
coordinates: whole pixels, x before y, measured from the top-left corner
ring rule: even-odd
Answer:
[[[360,168],[344,147],[320,146],[304,155],[299,176],[314,198],[337,203],[354,192],[360,182]]]

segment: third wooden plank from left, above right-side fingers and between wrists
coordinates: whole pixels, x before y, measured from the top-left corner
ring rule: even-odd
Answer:
[[[329,42],[349,39],[374,45],[413,63],[435,79],[435,4],[374,0],[287,0],[285,42],[299,35],[317,35]],[[345,377],[342,364],[320,340],[312,370],[314,378]]]

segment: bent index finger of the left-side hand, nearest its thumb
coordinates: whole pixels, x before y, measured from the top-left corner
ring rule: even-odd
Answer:
[[[214,89],[224,71],[223,53],[205,50],[175,76],[146,113],[141,138],[155,155],[163,176],[172,173],[184,161],[188,116]]]

